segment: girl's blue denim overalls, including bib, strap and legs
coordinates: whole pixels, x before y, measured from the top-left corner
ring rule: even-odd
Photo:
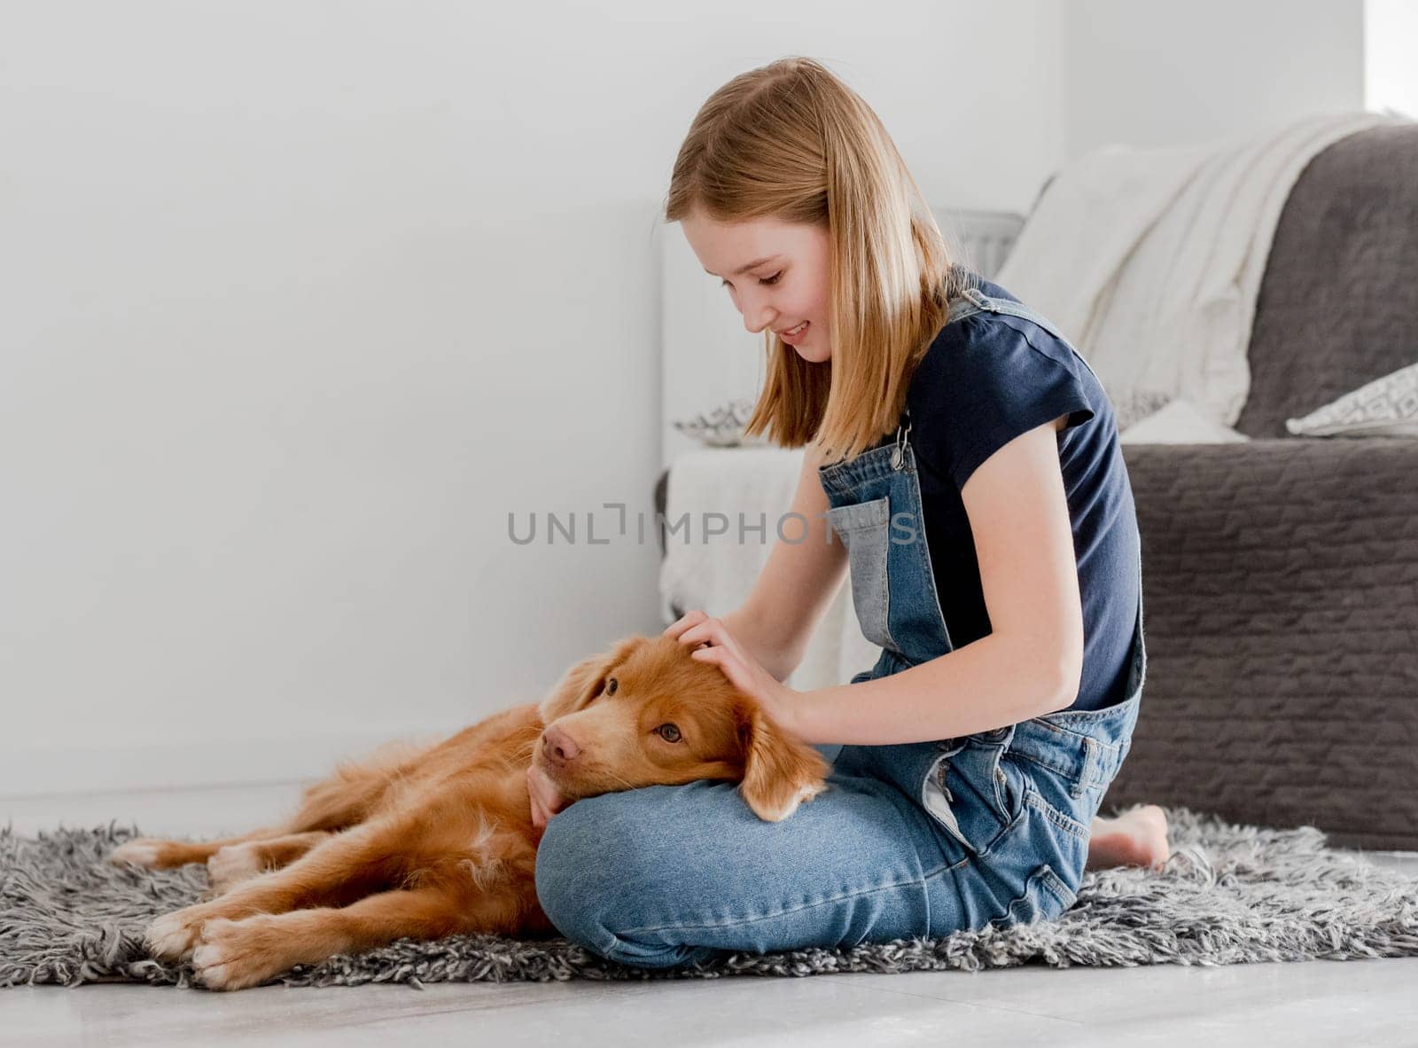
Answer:
[[[1048,328],[976,289],[950,320],[978,309]],[[820,469],[862,631],[882,648],[854,684],[951,651],[909,437],[908,418],[891,444]],[[913,515],[915,542],[892,540],[899,513]],[[1127,753],[1144,668],[1139,604],[1124,702],[960,739],[844,746],[828,788],[778,823],[730,781],[586,797],[547,823],[537,898],[573,942],[657,969],[1055,918],[1073,902],[1089,823]]]

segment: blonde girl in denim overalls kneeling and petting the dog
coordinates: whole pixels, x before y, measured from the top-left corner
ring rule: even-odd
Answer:
[[[674,967],[1052,919],[1085,862],[1163,861],[1160,808],[1096,818],[1146,652],[1132,489],[1088,364],[950,264],[881,121],[811,60],[705,102],[665,217],[769,332],[747,431],[805,447],[791,511],[808,520],[740,608],[665,632],[786,730],[844,746],[831,788],[781,823],[708,780],[550,817],[563,801],[533,774],[552,922]],[[881,658],[790,689],[844,572]]]

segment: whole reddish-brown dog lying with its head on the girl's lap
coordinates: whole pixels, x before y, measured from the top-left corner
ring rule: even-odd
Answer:
[[[764,820],[825,788],[827,762],[674,638],[630,637],[579,662],[540,705],[442,743],[342,766],[288,821],[191,844],[139,838],[113,862],[206,862],[208,901],[146,935],[218,990],[394,939],[554,932],[536,898],[526,787],[536,762],[567,798],[696,779],[740,783]]]

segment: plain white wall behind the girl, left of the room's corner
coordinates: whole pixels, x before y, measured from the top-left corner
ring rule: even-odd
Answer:
[[[695,109],[815,55],[930,200],[1021,208],[1061,21],[0,9],[0,797],[315,773],[658,628],[652,539],[506,516],[652,511],[652,234]]]

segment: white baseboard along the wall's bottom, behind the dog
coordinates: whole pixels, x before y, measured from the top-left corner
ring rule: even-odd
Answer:
[[[459,726],[394,725],[265,739],[218,736],[84,747],[0,745],[0,798],[308,780],[391,739],[431,742]]]

